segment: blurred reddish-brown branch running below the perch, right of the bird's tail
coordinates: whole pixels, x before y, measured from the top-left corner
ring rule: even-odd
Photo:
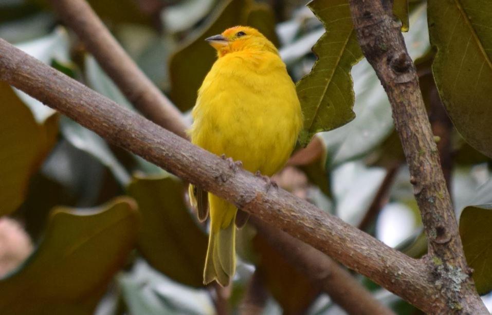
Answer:
[[[330,257],[257,218],[253,217],[252,220],[270,245],[279,249],[286,260],[319,285],[333,302],[349,314],[394,314]]]

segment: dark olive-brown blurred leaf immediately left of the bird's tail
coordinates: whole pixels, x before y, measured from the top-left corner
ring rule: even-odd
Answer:
[[[171,279],[202,287],[208,238],[186,207],[185,188],[170,175],[136,175],[127,191],[142,214],[138,248],[144,258]]]

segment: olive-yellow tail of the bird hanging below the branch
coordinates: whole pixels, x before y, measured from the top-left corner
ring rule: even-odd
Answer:
[[[210,235],[203,281],[208,284],[216,280],[226,286],[236,268],[234,220],[237,209],[212,194],[209,194],[209,202]]]

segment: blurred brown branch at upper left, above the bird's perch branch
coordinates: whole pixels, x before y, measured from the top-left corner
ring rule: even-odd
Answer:
[[[144,75],[84,0],[51,0],[51,4],[145,117],[186,138],[179,110]]]

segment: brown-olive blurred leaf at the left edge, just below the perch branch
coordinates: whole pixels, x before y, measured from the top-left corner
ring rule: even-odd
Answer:
[[[0,82],[0,215],[21,205],[29,177],[54,144],[57,121],[52,116],[39,125],[13,89]]]

